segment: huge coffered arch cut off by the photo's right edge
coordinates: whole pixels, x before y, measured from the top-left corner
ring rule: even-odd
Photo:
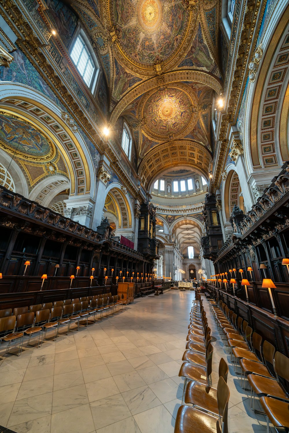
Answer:
[[[269,180],[273,172],[289,158],[289,102],[286,98],[289,71],[288,65],[278,62],[279,56],[284,55],[286,49],[283,42],[289,30],[289,6],[285,0],[272,5],[269,18],[265,20],[263,34],[257,42],[259,46],[262,43],[263,50],[257,77],[254,82],[247,84],[247,94],[245,91],[240,110],[243,113],[238,120],[238,129],[244,134],[248,174],[263,172],[265,168]]]

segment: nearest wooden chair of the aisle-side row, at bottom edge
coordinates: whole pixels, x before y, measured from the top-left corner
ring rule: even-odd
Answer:
[[[179,407],[175,420],[175,433],[228,433],[228,404],[230,391],[223,378],[218,383],[218,416],[219,420],[212,415],[206,414],[195,407]]]

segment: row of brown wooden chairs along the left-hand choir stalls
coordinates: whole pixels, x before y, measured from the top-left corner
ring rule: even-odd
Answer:
[[[111,294],[108,294],[111,295]],[[95,317],[106,314],[120,307],[127,306],[128,302],[122,300],[120,295],[106,296],[106,294],[94,297],[66,299],[45,304],[30,305],[30,307],[17,307],[13,310],[0,310],[0,345],[2,341],[8,343],[6,353],[9,351],[12,341],[19,342],[18,356],[23,347],[24,335],[28,336],[29,345],[32,336],[38,335],[38,346],[46,338],[48,330],[54,329],[54,340],[57,339],[60,327],[65,326],[67,335],[72,323],[80,323],[88,326],[88,320],[95,323]],[[2,336],[1,336],[2,335]],[[41,341],[41,343],[40,343]]]

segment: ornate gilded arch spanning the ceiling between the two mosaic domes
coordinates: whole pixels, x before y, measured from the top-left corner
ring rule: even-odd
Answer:
[[[217,92],[217,94],[220,94],[222,89],[221,80],[219,80],[209,72],[182,69],[179,71],[170,71],[162,74],[162,85],[167,85],[178,81],[195,81],[197,83],[206,84],[207,86],[211,87],[215,92]],[[121,113],[130,103],[133,102],[136,97],[146,93],[149,90],[153,90],[155,87],[159,87],[158,76],[143,81],[138,86],[133,87],[133,89],[130,90],[127,94],[125,94],[110,114],[111,126],[114,126],[117,119],[121,116]]]

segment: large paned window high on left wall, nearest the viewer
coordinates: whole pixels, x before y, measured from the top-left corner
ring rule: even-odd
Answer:
[[[70,55],[84,83],[93,93],[97,81],[99,65],[94,51],[91,48],[91,44],[81,29],[72,45]]]

